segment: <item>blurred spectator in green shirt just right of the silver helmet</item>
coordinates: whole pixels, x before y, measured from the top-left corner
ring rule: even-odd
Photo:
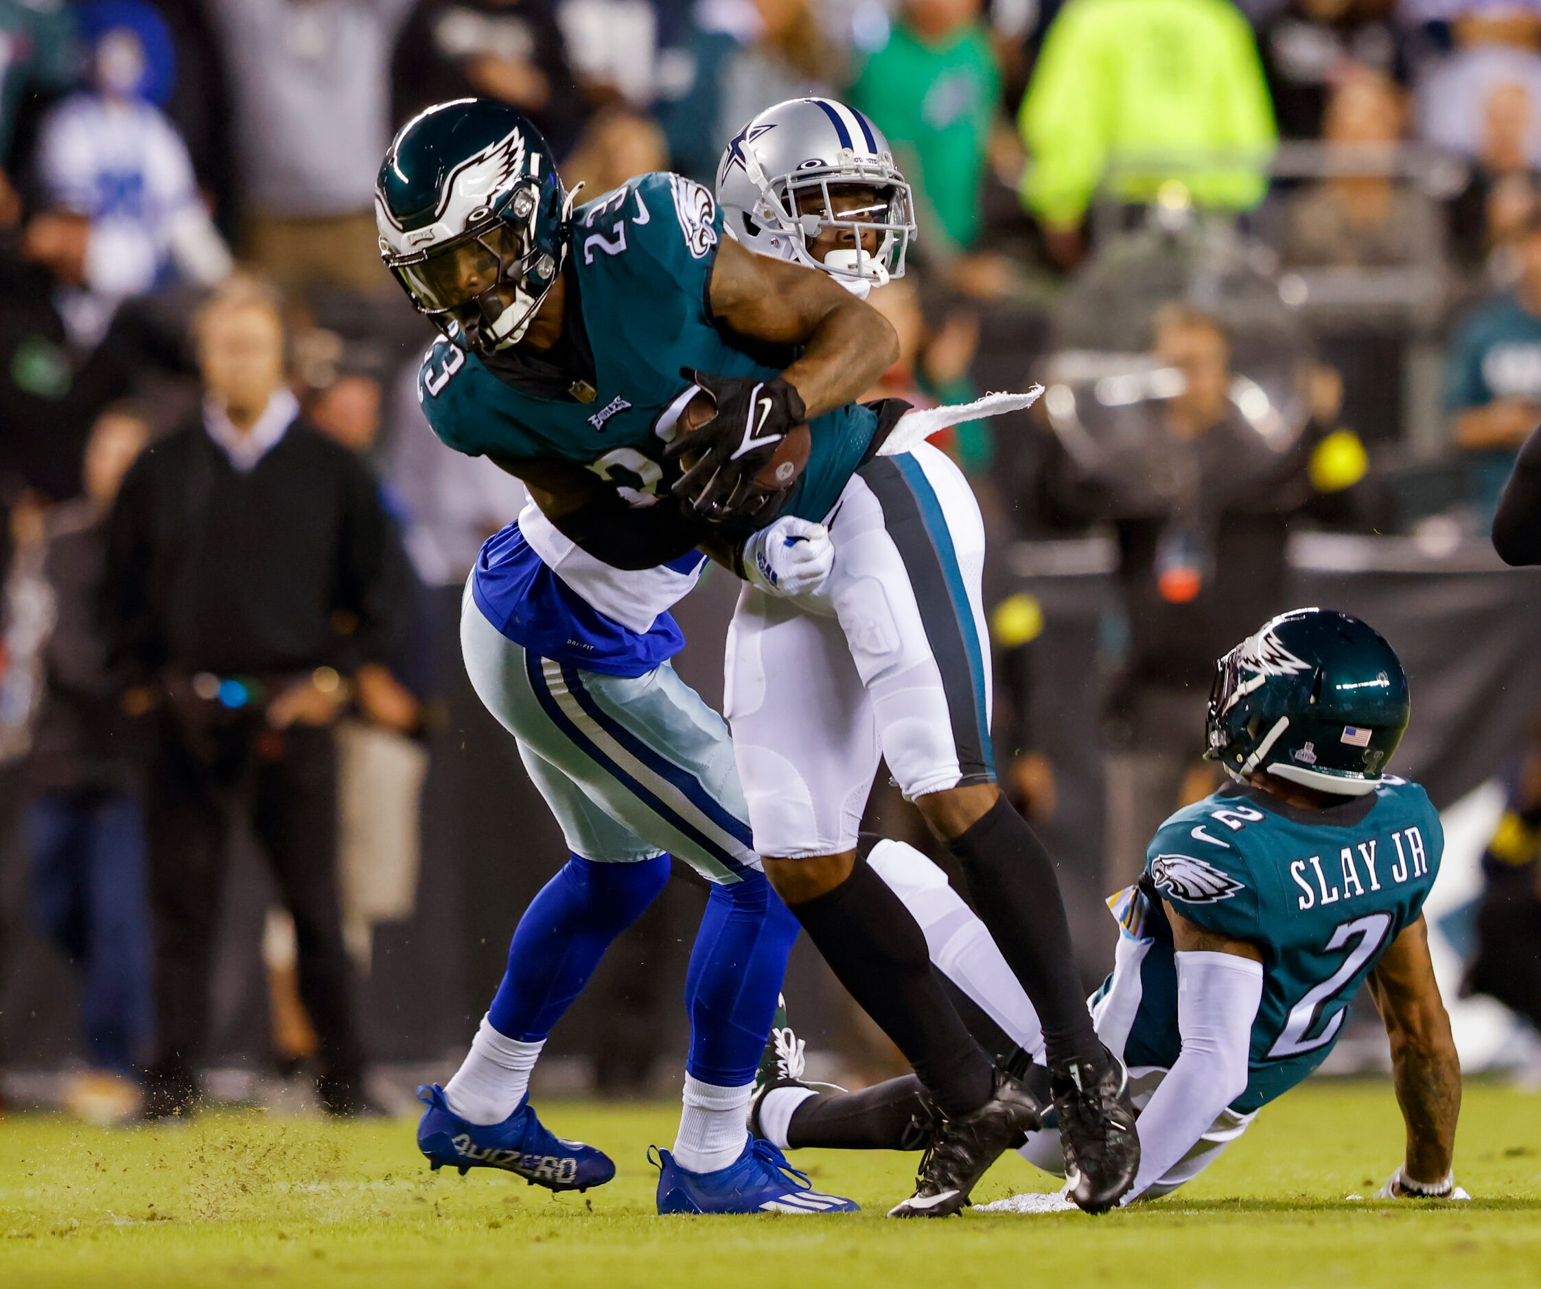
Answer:
[[[980,234],[1000,69],[979,14],[979,0],[908,0],[851,86],[915,189],[928,260],[963,256]]]

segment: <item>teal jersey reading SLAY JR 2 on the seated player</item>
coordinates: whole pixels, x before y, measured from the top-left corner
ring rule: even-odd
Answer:
[[[1233,785],[1162,824],[1140,892],[1154,887],[1188,921],[1264,956],[1250,1078],[1233,1110],[1251,1113],[1327,1060],[1359,986],[1422,913],[1442,849],[1429,795],[1393,778],[1331,810]],[[1182,1050],[1171,926],[1154,898],[1125,898],[1116,912],[1143,952],[1120,953],[1099,1012],[1137,998],[1125,1063],[1171,1069]]]

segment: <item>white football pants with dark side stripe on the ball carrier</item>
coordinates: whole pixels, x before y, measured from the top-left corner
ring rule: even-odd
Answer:
[[[724,715],[774,858],[855,849],[880,758],[908,799],[995,779],[985,524],[963,473],[929,444],[874,457],[824,522],[824,587],[744,587],[727,636]]]

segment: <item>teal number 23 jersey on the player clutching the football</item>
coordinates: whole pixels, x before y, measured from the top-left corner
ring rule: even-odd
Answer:
[[[518,467],[570,460],[635,507],[667,494],[660,417],[689,388],[680,371],[777,376],[712,317],[709,285],[723,216],[710,191],[678,174],[632,179],[573,214],[569,282],[593,356],[592,391],[533,394],[441,339],[422,362],[418,397],[433,431],[468,456]],[[573,296],[569,293],[569,308]],[[786,351],[787,363],[792,351]],[[823,519],[861,464],[877,416],[848,403],[811,422],[812,451],[783,514]]]

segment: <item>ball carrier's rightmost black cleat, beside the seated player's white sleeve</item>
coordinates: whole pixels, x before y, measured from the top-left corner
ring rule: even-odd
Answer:
[[[1134,1130],[1130,1075],[1108,1052],[1108,1066],[1093,1073],[1071,1061],[1051,1073],[1065,1181],[1076,1207],[1105,1214],[1134,1184],[1140,1170],[1140,1138]]]

